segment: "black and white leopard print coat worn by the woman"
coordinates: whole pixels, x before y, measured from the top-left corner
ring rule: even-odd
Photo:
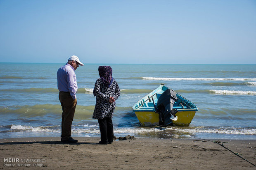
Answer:
[[[104,119],[104,117],[113,118],[116,102],[110,103],[109,97],[117,99],[120,96],[119,86],[114,79],[110,87],[104,85],[103,81],[98,78],[93,89],[93,94],[96,96],[95,109],[92,115],[93,119]]]

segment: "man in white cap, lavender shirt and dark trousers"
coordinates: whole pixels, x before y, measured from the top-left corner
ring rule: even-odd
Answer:
[[[72,55],[66,65],[59,68],[57,81],[59,89],[59,101],[62,106],[62,135],[61,141],[76,143],[77,140],[71,137],[71,125],[76,109],[76,74],[75,70],[84,64],[76,55]]]

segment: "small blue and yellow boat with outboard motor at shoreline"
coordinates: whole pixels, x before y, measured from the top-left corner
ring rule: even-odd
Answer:
[[[197,106],[161,84],[133,105],[142,126],[189,126]]]

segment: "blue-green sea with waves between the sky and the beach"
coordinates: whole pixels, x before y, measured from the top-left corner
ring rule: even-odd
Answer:
[[[65,63],[0,63],[0,138],[60,137],[57,70]],[[121,95],[114,136],[256,140],[256,64],[85,64],[76,69],[73,137],[100,137],[92,119],[98,67],[109,65]],[[197,105],[190,126],[141,126],[132,106],[164,83]]]

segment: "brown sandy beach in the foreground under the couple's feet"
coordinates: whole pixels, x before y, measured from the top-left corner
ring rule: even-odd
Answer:
[[[212,142],[217,140],[136,138],[98,145],[100,138],[75,139],[76,144],[63,144],[57,137],[0,139],[0,169],[256,169],[256,140],[218,144]]]

